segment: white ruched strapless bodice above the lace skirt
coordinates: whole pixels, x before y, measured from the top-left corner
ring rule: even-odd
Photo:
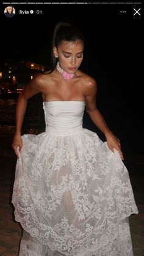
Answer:
[[[46,131],[54,135],[82,130],[85,101],[44,101]]]

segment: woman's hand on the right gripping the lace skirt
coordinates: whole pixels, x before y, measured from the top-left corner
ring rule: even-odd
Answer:
[[[120,139],[118,139],[113,133],[107,133],[105,134],[107,145],[112,152],[114,152],[114,149],[118,150],[120,153],[121,159],[124,160],[123,152],[121,151],[121,144]]]

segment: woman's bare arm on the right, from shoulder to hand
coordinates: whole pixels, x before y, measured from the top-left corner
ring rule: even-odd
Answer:
[[[109,149],[112,150],[112,152],[114,152],[114,149],[117,149],[120,153],[121,159],[123,160],[124,158],[123,153],[121,152],[120,140],[112,133],[112,131],[110,131],[103,115],[98,111],[96,107],[96,92],[96,81],[91,79],[87,87],[86,95],[87,113],[90,115],[93,123],[95,123],[95,125],[99,128],[99,130],[101,130],[102,133],[104,133]]]

